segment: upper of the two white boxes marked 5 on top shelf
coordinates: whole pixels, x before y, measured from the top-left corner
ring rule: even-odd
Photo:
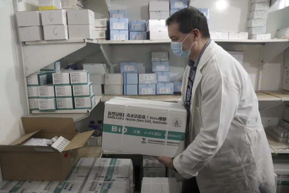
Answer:
[[[94,12],[89,9],[67,10],[68,25],[95,25]]]

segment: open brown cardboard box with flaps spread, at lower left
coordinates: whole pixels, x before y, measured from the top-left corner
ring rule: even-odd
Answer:
[[[4,180],[64,181],[77,161],[78,148],[93,131],[76,134],[73,118],[22,117],[26,134],[9,145],[0,145]],[[70,142],[60,152],[51,146],[19,145],[27,138],[62,136]]]

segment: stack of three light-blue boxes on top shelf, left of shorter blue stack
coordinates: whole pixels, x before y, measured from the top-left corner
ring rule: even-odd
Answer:
[[[129,40],[126,10],[110,10],[110,40]]]

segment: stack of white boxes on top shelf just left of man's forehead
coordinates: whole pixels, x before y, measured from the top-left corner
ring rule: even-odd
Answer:
[[[169,1],[149,1],[147,32],[150,40],[169,39],[166,19],[169,17]]]

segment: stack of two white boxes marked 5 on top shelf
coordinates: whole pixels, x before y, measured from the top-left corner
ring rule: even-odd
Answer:
[[[67,10],[69,39],[95,39],[94,12],[89,9]]]

